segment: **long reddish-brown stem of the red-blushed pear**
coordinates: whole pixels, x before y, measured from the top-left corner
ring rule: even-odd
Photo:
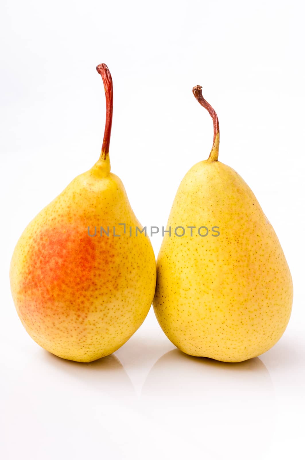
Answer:
[[[96,66],[96,70],[101,75],[104,83],[104,90],[106,96],[106,122],[105,122],[105,131],[103,138],[103,145],[100,158],[106,160],[107,155],[109,154],[109,144],[110,144],[110,135],[111,135],[111,125],[112,125],[112,113],[113,113],[113,84],[111,73],[106,64],[99,64]]]

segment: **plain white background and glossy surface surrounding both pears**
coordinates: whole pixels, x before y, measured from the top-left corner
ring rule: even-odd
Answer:
[[[3,459],[299,459],[304,455],[304,3],[2,0]],[[36,345],[9,288],[28,222],[97,160],[98,63],[114,85],[112,171],[143,225],[166,225],[187,170],[212,145],[254,191],[294,280],[273,349],[225,364],[183,355],[153,310],[114,355],[67,362]],[[162,236],[153,236],[157,255]]]

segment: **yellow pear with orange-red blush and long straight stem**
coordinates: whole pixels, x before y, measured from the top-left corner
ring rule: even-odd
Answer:
[[[28,334],[51,353],[81,362],[110,355],[136,332],[156,284],[151,242],[110,173],[113,85],[105,64],[96,69],[106,95],[101,156],[28,224],[10,269]]]

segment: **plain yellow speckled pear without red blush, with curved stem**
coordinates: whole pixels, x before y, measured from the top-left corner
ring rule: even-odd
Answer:
[[[219,123],[208,160],[183,178],[157,258],[153,307],[169,340],[193,356],[239,362],[269,350],[291,313],[288,264],[252,190],[218,161]]]

